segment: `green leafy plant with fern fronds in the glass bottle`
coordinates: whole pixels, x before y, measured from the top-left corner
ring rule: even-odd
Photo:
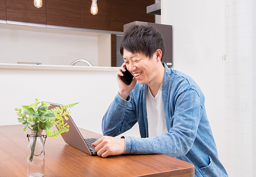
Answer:
[[[35,103],[30,104],[29,106],[21,106],[20,109],[15,108],[17,116],[19,116],[18,122],[24,125],[23,132],[26,132],[26,128],[31,129],[32,131],[38,131],[42,133],[43,130],[46,131],[47,136],[58,136],[61,133],[69,131],[69,125],[64,123],[64,119],[67,120],[67,115],[70,115],[70,108],[78,103],[67,104],[60,107],[55,107],[51,110],[48,110],[48,107],[51,106],[47,102],[42,102],[39,105],[38,99],[35,99]],[[52,131],[52,126],[55,125],[57,130]],[[32,162],[35,150],[36,136],[34,138],[34,143],[32,145],[32,151],[29,157],[29,161]]]

